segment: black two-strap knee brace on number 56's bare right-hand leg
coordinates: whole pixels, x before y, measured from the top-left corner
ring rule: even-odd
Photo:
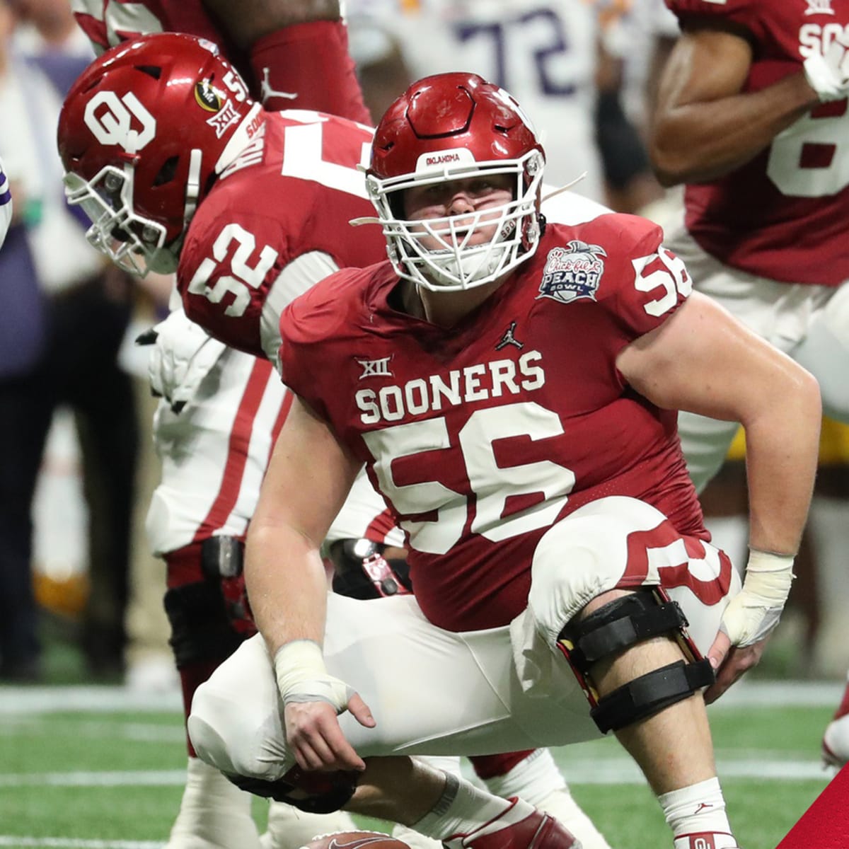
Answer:
[[[587,694],[590,716],[599,731],[606,734],[626,728],[716,680],[710,661],[702,658],[689,638],[687,625],[678,602],[655,588],[604,604],[582,620],[571,621],[559,633],[558,647]],[[662,635],[676,638],[687,660],[647,672],[599,698],[590,676],[593,664]]]

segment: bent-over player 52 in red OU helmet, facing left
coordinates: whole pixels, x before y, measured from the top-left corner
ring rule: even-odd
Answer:
[[[277,313],[291,297],[337,267],[385,256],[379,232],[363,238],[347,225],[372,210],[357,171],[371,134],[369,127],[315,112],[267,115],[211,44],[160,34],[121,44],[87,70],[66,100],[59,147],[70,200],[92,218],[93,244],[136,273],[167,271],[179,261],[193,314],[261,356],[263,347],[277,350]],[[222,557],[228,568],[239,559],[257,471],[261,476],[267,459],[264,435],[276,433],[288,409],[273,397],[268,363],[242,363],[253,357],[223,351],[211,340],[196,344],[198,333],[177,314],[159,328],[157,345],[164,347],[155,357],[155,385],[166,395],[157,414],[165,473],[149,514],[149,537],[169,567],[166,607],[187,709],[197,684],[250,633],[244,617],[231,627],[211,615],[216,590],[207,573]],[[222,458],[228,433],[231,447]],[[353,516],[343,515],[340,523],[349,533],[362,527],[364,536],[391,542],[391,523],[373,521],[385,512],[382,501],[376,507],[367,501],[361,493]],[[228,608],[244,607],[239,593],[233,595],[233,576],[222,577]],[[546,770],[537,761],[525,784],[548,786],[547,772],[562,784],[553,763]],[[184,809],[191,796],[203,823],[197,816],[188,823],[181,812],[171,849],[189,837],[247,846],[250,817],[234,818],[233,826],[224,816],[235,804],[229,785],[201,775],[194,758],[189,767]],[[274,846],[308,839],[302,829],[312,828],[312,819],[301,814],[297,820],[301,830],[274,818],[278,839],[286,841]],[[329,827],[340,825],[323,829]],[[594,832],[588,821],[584,827]]]

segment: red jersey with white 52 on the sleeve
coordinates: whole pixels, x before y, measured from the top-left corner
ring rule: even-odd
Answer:
[[[269,113],[265,132],[224,171],[188,227],[177,268],[188,317],[264,356],[263,310],[276,336],[279,312],[315,283],[295,276],[296,260],[325,257],[323,277],[383,259],[380,228],[348,223],[374,215],[357,170],[371,138],[370,127],[332,115]]]

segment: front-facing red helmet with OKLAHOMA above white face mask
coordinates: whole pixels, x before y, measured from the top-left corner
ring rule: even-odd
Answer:
[[[544,164],[531,122],[502,88],[469,73],[414,82],[381,119],[366,178],[396,272],[426,289],[454,291],[489,283],[528,259],[542,232]],[[515,176],[513,200],[464,216],[462,229],[452,216],[404,218],[405,189],[495,174]],[[492,240],[469,245],[475,227],[493,221]],[[422,239],[439,248],[429,250]]]

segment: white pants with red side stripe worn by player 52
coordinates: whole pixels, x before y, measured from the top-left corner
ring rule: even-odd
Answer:
[[[172,314],[169,321],[175,318]],[[181,320],[191,324],[184,316]],[[193,332],[200,335],[197,325]],[[146,523],[154,554],[212,536],[245,536],[274,441],[290,408],[291,393],[271,363],[209,341],[217,356],[202,359],[189,353],[194,364],[179,376],[183,385],[194,387],[186,405],[175,413],[163,400],[155,413],[162,479]],[[159,356],[173,357],[179,344],[173,336],[160,335]],[[193,368],[200,368],[200,374]],[[173,382],[158,388],[170,397],[178,391]],[[360,475],[329,540],[368,537],[402,545],[402,532],[385,514],[383,499]]]

